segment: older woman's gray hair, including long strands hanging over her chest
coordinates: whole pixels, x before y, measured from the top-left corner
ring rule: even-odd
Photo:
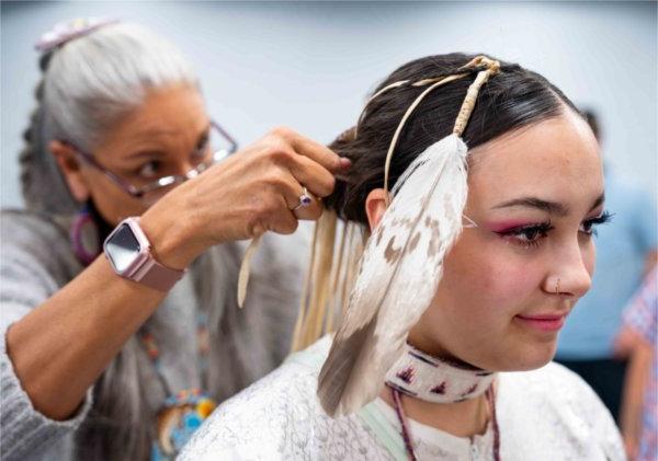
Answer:
[[[138,106],[148,89],[198,85],[172,45],[125,24],[106,25],[66,43],[44,55],[41,68],[44,76],[36,89],[38,105],[24,134],[21,178],[27,207],[54,217],[71,215],[77,204],[48,152],[52,140],[65,139],[93,152],[109,127]],[[240,246],[227,243],[206,251],[190,268],[196,295],[190,302],[208,313],[213,366],[207,390],[218,400],[277,365],[292,333],[292,319],[282,313],[287,312],[284,306],[295,293],[288,287],[295,284],[280,270],[270,270],[272,279],[263,283],[273,306],[263,310],[237,308],[241,257]],[[265,260],[272,257],[270,254]],[[144,360],[148,358],[133,336],[94,383],[92,411],[76,433],[78,459],[148,459],[155,414],[143,385],[151,367]]]

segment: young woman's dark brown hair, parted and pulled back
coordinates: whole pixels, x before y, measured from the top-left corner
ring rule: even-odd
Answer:
[[[400,80],[416,82],[462,73],[464,70],[460,68],[476,56],[454,53],[410,61],[395,70],[375,92]],[[477,70],[434,90],[416,108],[393,154],[389,187],[413,159],[452,132]],[[325,200],[340,218],[367,223],[365,198],[372,189],[384,186],[384,162],[393,135],[407,108],[424,89],[427,87],[407,84],[377,96],[367,105],[358,126],[358,136],[341,136],[330,146],[353,163],[347,181],[338,181],[333,194]],[[469,148],[475,148],[509,131],[559,116],[566,107],[579,113],[574,103],[544,77],[517,64],[500,61],[500,72],[479,92],[463,139]]]

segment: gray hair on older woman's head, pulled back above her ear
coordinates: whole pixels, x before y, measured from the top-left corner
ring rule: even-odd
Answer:
[[[49,152],[54,139],[93,151],[149,89],[197,87],[190,62],[167,39],[134,24],[103,26],[42,57],[37,107],[23,138],[21,183],[29,209],[70,215],[78,205]]]

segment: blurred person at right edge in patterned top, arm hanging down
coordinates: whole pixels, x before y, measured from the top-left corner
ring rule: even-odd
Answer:
[[[658,459],[658,268],[645,279],[624,310],[619,347],[629,350],[621,407],[621,426],[628,458]]]

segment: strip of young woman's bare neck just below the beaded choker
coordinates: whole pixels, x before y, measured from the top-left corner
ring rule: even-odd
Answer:
[[[387,385],[379,392],[379,397],[394,407]],[[490,419],[490,410],[484,394],[455,403],[431,403],[402,394],[401,402],[408,418],[457,437],[484,434]]]

